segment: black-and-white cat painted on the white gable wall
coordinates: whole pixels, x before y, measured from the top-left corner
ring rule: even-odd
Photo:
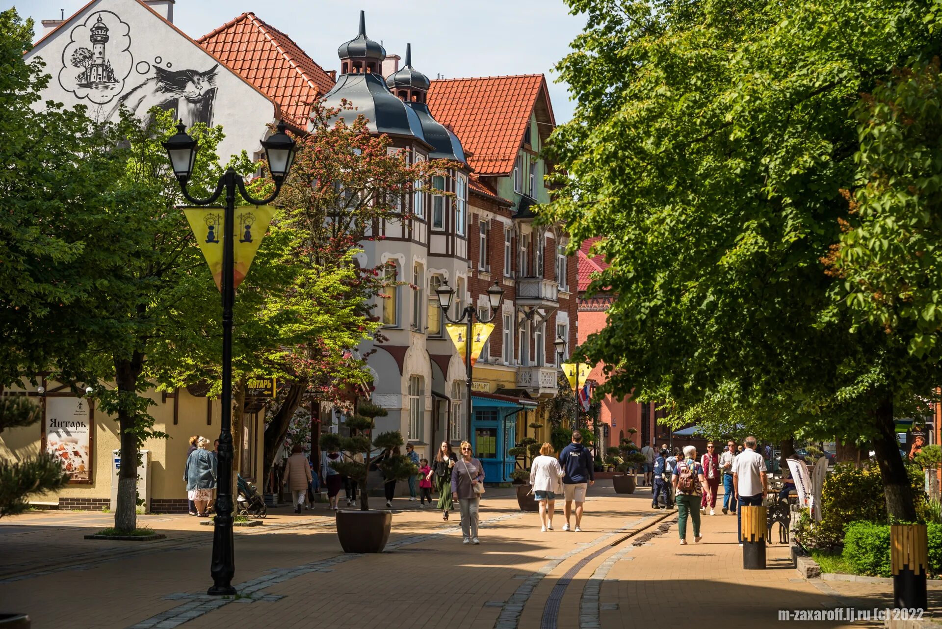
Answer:
[[[130,89],[118,99],[108,119],[118,115],[126,107],[144,123],[150,122],[148,111],[154,106],[173,112],[174,118],[187,126],[194,122],[211,125],[213,103],[216,100],[217,63],[209,70],[166,70],[154,66],[154,76]]]

